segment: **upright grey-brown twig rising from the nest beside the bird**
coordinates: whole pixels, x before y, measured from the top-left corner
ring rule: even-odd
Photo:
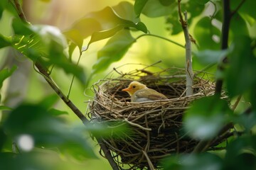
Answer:
[[[178,0],[178,16],[181,21],[184,37],[186,40],[186,96],[193,95],[193,68],[192,68],[192,57],[191,57],[191,36],[188,33],[188,18],[187,12],[184,12],[185,20],[181,15],[181,0]]]

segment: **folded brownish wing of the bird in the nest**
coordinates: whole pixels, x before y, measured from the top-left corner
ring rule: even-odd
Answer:
[[[153,89],[139,90],[135,93],[135,95],[137,96],[137,98],[149,98],[149,100],[151,101],[168,99],[166,98],[166,96],[164,96],[164,94],[160,94]]]

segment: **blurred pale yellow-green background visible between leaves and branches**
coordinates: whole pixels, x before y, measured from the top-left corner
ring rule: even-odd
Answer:
[[[33,25],[46,24],[56,26],[60,28],[60,30],[65,31],[70,28],[75,21],[78,21],[78,19],[82,18],[87,13],[90,13],[91,11],[100,11],[105,6],[115,6],[119,4],[120,1],[121,0],[23,0],[23,10],[28,21]],[[134,3],[134,1],[129,2],[132,4]],[[211,7],[209,6],[209,11],[210,8]],[[201,16],[194,18],[193,23],[190,23],[190,31],[192,35],[196,21],[205,14],[206,13],[202,13]],[[11,35],[10,24],[12,16],[7,11],[4,11],[3,15],[4,17],[2,17],[0,21],[0,33],[2,35]],[[171,35],[169,30],[167,30],[168,25],[166,24],[166,19],[164,17],[148,18],[142,15],[141,19],[142,22],[146,24],[150,33],[169,38],[181,45],[185,44],[183,32],[178,35]],[[134,35],[139,35],[139,33],[134,33]],[[87,38],[85,42],[88,42],[89,40],[90,38]],[[97,60],[97,51],[100,50],[106,42],[107,40],[95,42],[90,45],[89,50],[82,54],[80,65],[85,69],[87,77],[89,77],[90,72],[92,71],[92,65],[95,64]],[[195,45],[193,45],[193,50],[196,50]],[[4,100],[6,106],[15,107],[23,102],[38,103],[39,101],[42,101],[47,94],[50,95],[54,93],[43,77],[33,70],[33,64],[30,60],[8,48],[1,49],[0,55],[1,63],[18,65],[18,70],[14,73],[14,76],[10,77],[8,81],[4,81],[4,87],[2,88],[3,95],[1,98],[3,98],[2,100]],[[79,51],[76,49],[73,54],[74,62],[78,60],[78,56]],[[90,86],[99,79],[103,79],[113,67],[119,67],[127,63],[152,64],[159,60],[162,61],[158,64],[159,67],[183,68],[185,65],[185,50],[182,47],[178,47],[171,42],[159,38],[149,36],[140,38],[131,48],[129,48],[129,51],[122,60],[112,64],[105,72],[92,77],[92,79],[89,80],[90,82],[87,88],[81,86],[80,82],[75,80],[70,93],[70,99],[76,106],[78,106],[80,111],[85,113],[87,110],[86,101],[92,100],[93,98]],[[194,69],[202,68],[203,66],[194,63]],[[134,69],[137,69],[136,64],[122,67],[120,70],[122,72],[129,72]],[[53,69],[51,76],[58,86],[60,86],[60,89],[62,89],[65,94],[68,94],[72,76],[65,74],[59,69]],[[60,111],[68,112],[68,115],[61,116],[67,120],[70,125],[82,124],[63,101],[58,101],[58,103],[55,104],[55,108],[58,108]],[[56,165],[55,169],[102,169],[102,167],[104,167],[103,169],[111,169],[107,159],[102,158],[100,154],[98,154],[100,148],[97,145],[97,142],[92,141],[89,136],[86,136],[86,138],[90,142],[91,147],[95,150],[97,159],[78,161],[64,156],[58,159],[54,156],[53,158],[43,157],[41,159],[60,163]]]

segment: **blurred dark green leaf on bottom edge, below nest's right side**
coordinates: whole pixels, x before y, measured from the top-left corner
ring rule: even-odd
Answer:
[[[180,154],[164,159],[164,169],[223,169],[223,160],[215,154]]]

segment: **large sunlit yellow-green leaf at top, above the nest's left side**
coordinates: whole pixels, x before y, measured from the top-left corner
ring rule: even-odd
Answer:
[[[122,8],[131,8],[129,3],[120,3],[114,6],[117,11]],[[120,13],[120,16],[132,18],[132,15],[127,13]],[[110,38],[114,34],[118,33],[124,28],[136,28],[144,33],[147,33],[146,26],[142,26],[142,23],[134,23],[133,21],[139,21],[138,19],[132,18],[132,21],[121,18],[113,8],[107,6],[101,11],[92,12],[87,14],[85,18],[76,22],[70,30],[67,30],[64,34],[68,39],[72,40],[80,50],[82,50],[82,40],[88,36],[92,36],[88,45],[98,40]],[[144,25],[144,24],[143,24]],[[87,48],[86,48],[87,49]]]

